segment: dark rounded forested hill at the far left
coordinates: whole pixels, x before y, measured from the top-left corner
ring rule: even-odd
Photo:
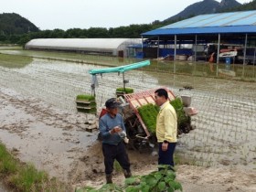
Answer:
[[[0,35],[25,34],[39,29],[26,18],[13,14],[0,14]]]

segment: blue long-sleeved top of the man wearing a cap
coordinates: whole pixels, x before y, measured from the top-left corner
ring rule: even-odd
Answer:
[[[115,117],[112,117],[109,113],[106,113],[101,117],[99,127],[103,144],[117,145],[123,140],[118,133],[110,133],[115,126],[121,127],[126,132],[121,114],[117,113]]]

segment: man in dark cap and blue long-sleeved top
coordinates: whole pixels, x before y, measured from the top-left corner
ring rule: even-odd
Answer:
[[[99,122],[102,137],[102,152],[104,155],[104,165],[107,184],[112,183],[113,162],[117,160],[123,167],[125,178],[132,176],[129,157],[126,153],[123,138],[119,135],[126,132],[123,117],[118,113],[119,102],[115,98],[109,99],[105,103],[107,113]]]

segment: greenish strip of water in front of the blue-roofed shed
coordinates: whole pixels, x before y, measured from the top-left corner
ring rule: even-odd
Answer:
[[[255,65],[152,60],[146,69],[171,74],[256,81]]]

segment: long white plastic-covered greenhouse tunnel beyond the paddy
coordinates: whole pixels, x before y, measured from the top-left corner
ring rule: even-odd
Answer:
[[[38,38],[27,42],[25,48],[133,58],[141,50],[141,42],[140,38]]]

